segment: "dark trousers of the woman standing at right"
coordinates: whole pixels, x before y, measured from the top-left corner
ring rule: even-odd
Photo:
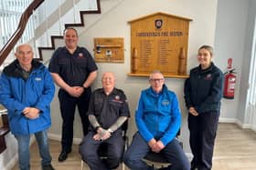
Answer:
[[[219,122],[219,111],[188,114],[189,144],[194,155],[191,169],[209,170],[212,166],[214,142]]]

